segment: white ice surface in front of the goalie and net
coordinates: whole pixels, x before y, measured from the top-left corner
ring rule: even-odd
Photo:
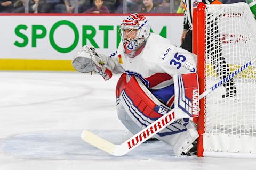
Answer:
[[[161,141],[114,157],[85,143],[83,129],[121,143],[118,76],[1,72],[0,169],[253,169],[255,159],[175,157]]]

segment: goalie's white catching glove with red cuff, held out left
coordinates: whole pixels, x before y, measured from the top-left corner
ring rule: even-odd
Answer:
[[[95,48],[90,45],[83,46],[72,61],[73,67],[81,73],[95,71],[99,73],[104,80],[112,77],[111,70],[115,63],[102,54],[97,54]]]

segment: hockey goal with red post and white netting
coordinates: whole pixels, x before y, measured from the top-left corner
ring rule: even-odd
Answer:
[[[256,57],[256,20],[246,3],[204,5],[193,16],[200,93]],[[200,103],[198,156],[256,156],[255,64]]]

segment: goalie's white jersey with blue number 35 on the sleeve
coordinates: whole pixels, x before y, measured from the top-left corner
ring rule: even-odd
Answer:
[[[173,75],[196,72],[197,56],[171,45],[169,40],[150,33],[140,54],[129,58],[122,43],[110,56],[115,62],[113,72],[136,75],[149,89],[161,89],[173,84]]]

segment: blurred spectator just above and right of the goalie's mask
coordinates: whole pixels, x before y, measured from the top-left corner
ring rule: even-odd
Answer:
[[[140,13],[163,13],[163,7],[159,5],[154,5],[153,0],[142,0],[143,5],[141,7]]]

